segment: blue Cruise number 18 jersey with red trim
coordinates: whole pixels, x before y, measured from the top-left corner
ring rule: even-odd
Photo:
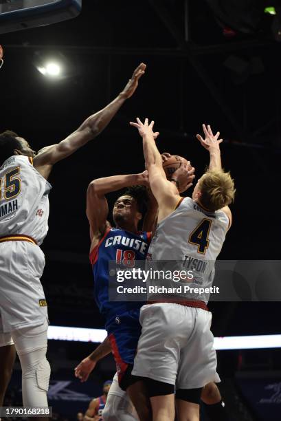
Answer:
[[[105,316],[105,326],[115,320],[116,316],[143,305],[136,301],[109,301],[109,261],[116,261],[125,268],[133,267],[134,260],[146,259],[150,239],[151,233],[133,234],[120,228],[108,228],[99,244],[91,251],[95,301]]]

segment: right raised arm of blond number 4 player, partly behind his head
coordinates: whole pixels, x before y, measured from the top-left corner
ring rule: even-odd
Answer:
[[[203,139],[202,136],[199,134],[196,135],[196,138],[199,140],[201,145],[210,153],[209,169],[221,170],[222,165],[220,144],[221,142],[223,142],[223,139],[218,139],[220,136],[220,132],[218,131],[214,136],[210,125],[207,125],[207,128],[205,125],[202,125],[202,127],[203,132],[205,134],[205,139]],[[229,229],[232,225],[232,211],[229,209],[229,206],[225,206],[221,210],[223,210],[223,212],[226,213],[227,217],[229,218]]]

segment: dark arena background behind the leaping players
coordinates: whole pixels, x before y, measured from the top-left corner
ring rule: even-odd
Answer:
[[[36,151],[65,138],[117,96],[139,63],[147,65],[109,126],[49,177],[42,283],[52,327],[104,329],[93,299],[86,192],[95,178],[144,171],[142,141],[129,126],[137,116],[155,120],[160,151],[186,157],[196,178],[209,159],[196,133],[202,123],[220,131],[223,167],[237,189],[220,259],[280,259],[280,41],[276,0],[83,0],[75,19],[1,34],[1,131],[19,133]],[[45,60],[61,66],[57,77],[38,72]],[[117,196],[109,195],[110,206]],[[270,277],[263,281],[270,288]],[[217,352],[231,421],[281,420],[280,301],[280,290],[257,301],[245,287],[239,301],[210,302],[214,336],[267,335],[256,345],[249,338],[249,349],[237,338]],[[104,358],[81,384],[74,367],[98,343],[66,336],[49,340],[49,404],[53,419],[70,421],[100,396],[115,364]],[[18,360],[8,404],[21,406]]]

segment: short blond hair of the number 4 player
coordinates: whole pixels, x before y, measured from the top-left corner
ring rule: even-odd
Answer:
[[[198,188],[201,192],[199,202],[207,210],[214,212],[234,202],[234,180],[223,169],[208,170],[199,180]]]

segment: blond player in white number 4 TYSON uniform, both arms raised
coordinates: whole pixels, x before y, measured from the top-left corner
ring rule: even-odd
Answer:
[[[221,168],[219,133],[213,136],[203,126],[201,144],[210,152],[210,168],[196,184],[192,199],[180,197],[179,177],[192,169],[181,167],[166,179],[161,155],[153,138],[153,125],[137,118],[143,138],[144,157],[150,187],[159,206],[158,225],[148,250],[151,261],[200,259],[205,272],[196,274],[201,287],[210,287],[214,265],[225,235],[232,222],[228,204],[234,199],[234,182]],[[194,170],[194,169],[193,169]],[[188,186],[186,186],[188,188]],[[210,264],[209,264],[210,263]],[[175,398],[179,421],[199,420],[199,398],[202,387],[218,382],[214,337],[210,331],[212,315],[207,299],[194,294],[160,299],[144,305],[140,313],[142,335],[139,338],[133,375],[144,378],[153,408],[153,421],[175,418]],[[205,301],[204,301],[205,300]],[[149,301],[149,297],[148,297]],[[176,389],[176,394],[174,391]]]

